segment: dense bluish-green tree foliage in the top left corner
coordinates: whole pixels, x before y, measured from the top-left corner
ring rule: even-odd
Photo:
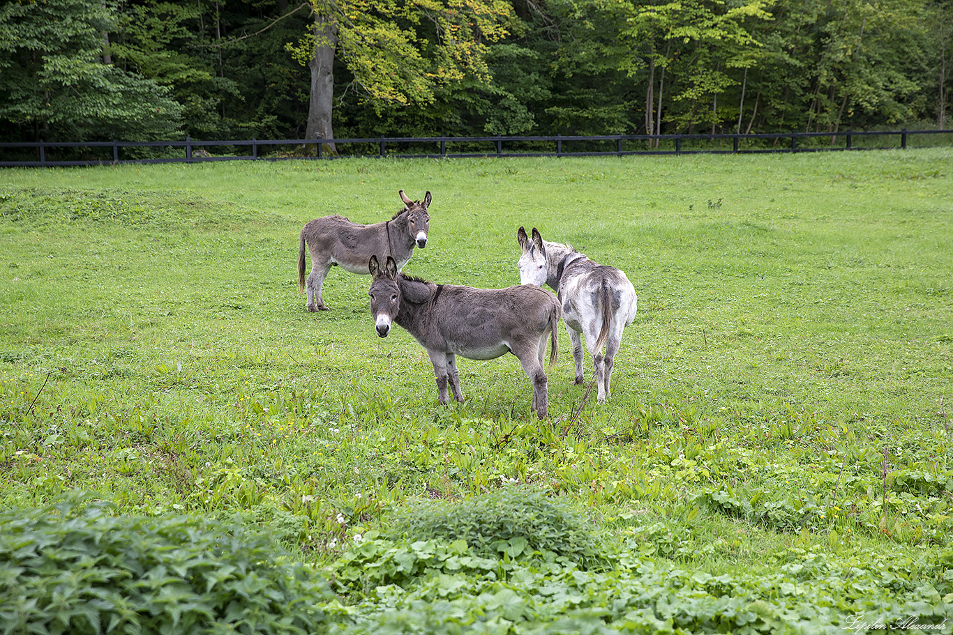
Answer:
[[[104,64],[114,28],[101,0],[0,8],[0,121],[47,141],[171,139],[181,107],[149,79]]]

